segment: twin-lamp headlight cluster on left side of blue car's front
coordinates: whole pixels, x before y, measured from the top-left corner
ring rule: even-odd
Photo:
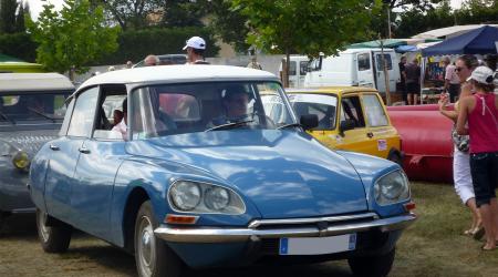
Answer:
[[[246,212],[240,196],[234,191],[207,183],[176,181],[168,192],[174,209],[189,213],[239,215]]]

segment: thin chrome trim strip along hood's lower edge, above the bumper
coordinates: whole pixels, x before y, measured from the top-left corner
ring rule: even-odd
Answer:
[[[262,226],[272,225],[299,225],[299,224],[315,224],[320,222],[326,223],[341,223],[360,219],[377,219],[378,215],[375,213],[365,213],[357,215],[340,215],[340,216],[326,216],[326,217],[312,217],[312,218],[286,218],[286,219],[256,219],[249,223],[248,227],[256,229]]]

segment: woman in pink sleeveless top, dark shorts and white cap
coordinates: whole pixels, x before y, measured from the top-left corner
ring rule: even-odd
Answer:
[[[492,250],[498,242],[498,96],[489,68],[478,66],[469,81],[475,94],[460,100],[457,132],[470,136],[470,174],[486,230],[483,250]]]

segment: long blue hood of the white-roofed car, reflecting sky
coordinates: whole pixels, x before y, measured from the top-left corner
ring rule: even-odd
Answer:
[[[131,154],[203,168],[252,202],[263,218],[367,209],[354,167],[305,133],[215,131],[128,143]]]

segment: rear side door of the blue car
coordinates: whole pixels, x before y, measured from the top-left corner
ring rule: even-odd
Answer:
[[[83,142],[90,136],[95,114],[98,88],[91,88],[75,100],[72,113],[69,113],[68,132],[50,142],[52,155],[45,178],[45,205],[48,213],[61,220],[73,224],[71,192],[75,183],[74,170],[80,158]],[[64,126],[62,127],[64,130]]]

